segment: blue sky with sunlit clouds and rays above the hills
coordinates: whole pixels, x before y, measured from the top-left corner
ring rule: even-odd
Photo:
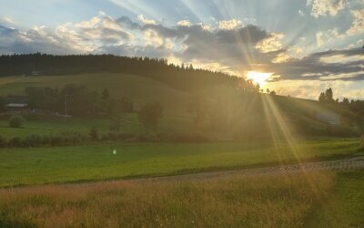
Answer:
[[[278,94],[364,98],[364,0],[0,0],[0,54],[164,57]],[[258,72],[258,73],[251,73]],[[267,78],[263,80],[262,78]]]

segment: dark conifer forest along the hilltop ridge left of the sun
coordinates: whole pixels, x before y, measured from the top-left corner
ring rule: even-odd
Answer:
[[[0,77],[16,75],[71,75],[85,73],[123,73],[167,83],[173,88],[195,90],[226,86],[258,91],[251,81],[221,72],[175,66],[164,58],[117,57],[113,55],[53,56],[45,54],[0,57]]]

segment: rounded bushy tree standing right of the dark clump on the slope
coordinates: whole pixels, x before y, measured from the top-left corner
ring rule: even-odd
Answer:
[[[163,107],[158,103],[147,104],[139,111],[139,120],[147,128],[157,126],[159,119],[162,118]]]

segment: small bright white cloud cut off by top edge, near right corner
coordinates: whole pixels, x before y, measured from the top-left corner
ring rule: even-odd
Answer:
[[[308,0],[307,5],[312,7],[312,16],[336,16],[345,8],[347,0]]]

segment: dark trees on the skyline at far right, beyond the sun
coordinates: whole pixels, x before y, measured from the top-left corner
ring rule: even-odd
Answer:
[[[332,88],[328,88],[325,92],[320,93],[319,101],[329,104],[340,104],[349,108],[354,113],[364,115],[364,100],[349,100],[349,98],[343,98],[342,101],[339,101],[339,98],[334,98],[334,91]]]

